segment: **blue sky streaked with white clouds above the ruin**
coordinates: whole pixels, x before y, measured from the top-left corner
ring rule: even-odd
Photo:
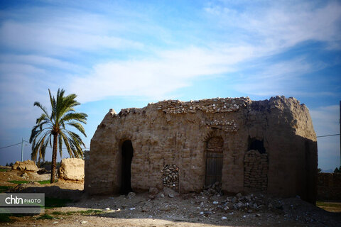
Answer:
[[[0,147],[28,140],[49,88],[78,95],[87,148],[109,109],[163,99],[294,96],[335,134],[340,74],[341,1],[1,1]],[[318,158],[340,166],[340,138]]]

